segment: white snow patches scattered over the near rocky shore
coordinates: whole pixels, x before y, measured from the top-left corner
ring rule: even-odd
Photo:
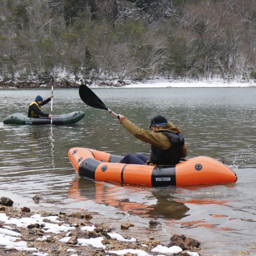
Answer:
[[[69,243],[71,237],[70,235],[70,230],[76,229],[75,227],[70,226],[69,224],[65,224],[61,221],[57,220],[58,216],[49,216],[49,217],[41,217],[38,214],[35,214],[29,218],[9,218],[6,216],[6,214],[0,214],[0,222],[4,222],[5,224],[12,224],[17,227],[23,227],[27,228],[28,225],[30,224],[39,224],[41,227],[41,230],[44,231],[45,233],[55,233],[58,234],[61,231],[66,233],[66,236],[59,239],[59,242],[62,243]],[[54,223],[49,223],[46,222],[51,221]],[[58,224],[55,224],[58,223]],[[39,251],[35,247],[28,247],[26,241],[22,241],[22,234],[12,231],[8,228],[0,228],[0,245],[5,246],[6,249],[16,249],[17,251],[29,251],[33,252],[33,255],[38,255],[38,256],[48,256],[48,253],[44,253]],[[93,231],[95,229],[95,226],[84,226],[80,228],[81,230],[84,231]],[[115,233],[115,232],[108,232],[108,235],[111,237],[111,239],[115,239],[121,242],[137,242],[135,238],[130,238],[130,239],[125,239],[121,234]],[[49,236],[42,236],[41,238],[37,238],[37,241],[46,241]],[[84,239],[84,238],[77,238],[77,244],[76,246],[93,246],[95,248],[101,248],[103,250],[106,249],[106,246],[102,244],[103,242],[103,237],[97,237],[97,238],[90,238],[90,239]],[[141,244],[144,246],[144,244]],[[173,255],[176,253],[182,252],[182,249],[178,246],[172,246],[172,247],[165,247],[162,245],[158,245],[155,248],[151,250],[154,253],[164,253],[158,256],[164,256],[164,255]],[[76,252],[74,249],[67,249],[67,252]],[[105,251],[106,253],[115,253],[117,255],[124,255],[125,253],[132,253],[132,254],[137,254],[138,256],[152,256],[148,252],[141,250],[141,249],[123,249],[123,250],[110,250],[110,251]],[[76,255],[76,254],[72,254]],[[189,252],[189,255],[192,256],[199,256],[196,252]]]

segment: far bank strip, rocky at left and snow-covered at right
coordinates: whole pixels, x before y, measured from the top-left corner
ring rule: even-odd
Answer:
[[[84,83],[91,88],[210,88],[210,87],[256,87],[256,81],[250,80],[196,80],[196,79],[144,79],[144,80],[129,80],[129,79],[110,79],[110,80],[80,80],[68,81],[67,79],[55,79],[54,88],[79,88],[80,84]],[[13,80],[0,81],[0,88],[51,88],[51,81],[44,83],[38,81],[17,82]]]

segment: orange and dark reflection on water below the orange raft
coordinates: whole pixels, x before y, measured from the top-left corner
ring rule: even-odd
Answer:
[[[92,186],[92,183],[95,185]],[[182,219],[188,207],[168,192],[112,182],[93,182],[77,178],[71,183],[69,197],[78,201],[93,200],[132,215],[150,218]]]

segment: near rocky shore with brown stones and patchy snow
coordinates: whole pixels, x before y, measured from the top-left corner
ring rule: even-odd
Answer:
[[[98,223],[97,216],[86,210],[34,212],[26,206],[13,207],[6,197],[1,197],[0,204],[1,255],[202,255],[196,239],[173,234],[169,243],[163,244],[155,237],[129,238],[116,233],[111,223]],[[148,223],[152,227],[157,224],[154,220]],[[126,221],[121,229],[133,226]]]

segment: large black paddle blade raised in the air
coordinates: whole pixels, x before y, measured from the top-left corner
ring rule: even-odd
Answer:
[[[81,100],[89,106],[96,109],[108,110],[106,105],[98,98],[98,96],[85,84],[79,87],[79,95]]]

